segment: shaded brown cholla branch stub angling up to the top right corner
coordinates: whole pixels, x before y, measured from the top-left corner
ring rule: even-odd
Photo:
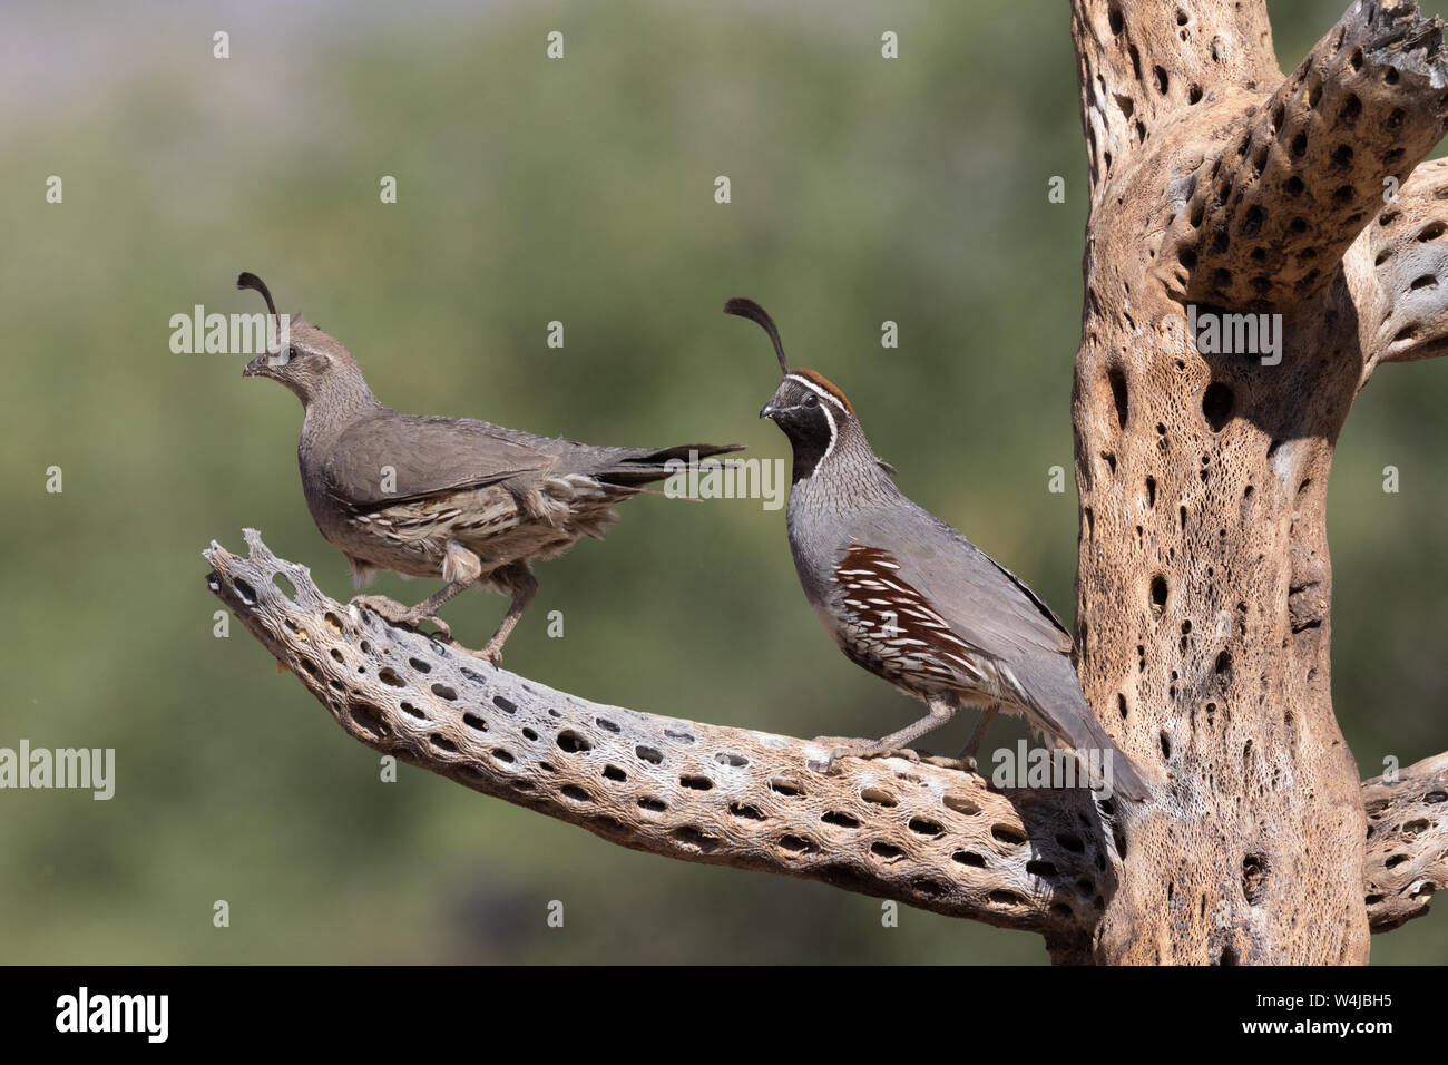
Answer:
[[[1410,6],[1352,7],[1190,171],[1163,243],[1171,294],[1287,307],[1325,287],[1445,114],[1442,25]]]

